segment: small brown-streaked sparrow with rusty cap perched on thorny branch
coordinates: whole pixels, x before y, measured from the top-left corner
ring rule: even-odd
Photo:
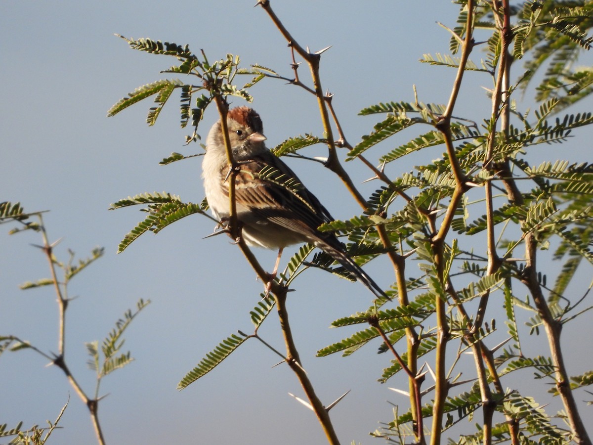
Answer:
[[[272,275],[276,274],[284,247],[312,243],[342,264],[373,294],[386,297],[347,255],[345,246],[333,233],[318,230],[321,224],[333,218],[313,193],[301,185],[297,175],[266,148],[262,119],[256,111],[245,106],[231,109],[227,125],[232,155],[239,170],[235,179],[235,201],[241,236],[250,246],[279,250]],[[269,177],[260,174],[264,167],[271,167]],[[221,220],[228,218],[229,166],[220,121],[212,126],[206,140],[202,177],[213,214]],[[291,179],[295,182],[289,181]]]

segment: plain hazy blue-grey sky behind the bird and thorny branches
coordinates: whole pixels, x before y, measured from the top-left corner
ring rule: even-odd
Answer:
[[[255,340],[203,379],[177,391],[179,380],[222,339],[238,329],[251,332],[249,311],[259,301],[262,284],[227,239],[203,239],[213,230],[207,218],[185,218],[158,236],[142,236],[116,255],[117,244],[143,214],[134,208],[107,211],[110,203],[142,192],[166,191],[192,202],[203,198],[200,158],[158,165],[173,151],[201,152],[199,145],[183,145],[190,130],[178,126],[175,98],[150,128],[145,124],[150,101],[106,117],[112,104],[136,87],[162,78],[159,71],[175,62],[134,51],[113,34],[188,43],[195,52],[204,49],[211,60],[233,53],[241,56],[244,66],[259,63],[292,77],[285,40],[254,3],[0,2],[0,201],[20,201],[26,211],[49,210],[44,222],[50,240],[63,237],[55,250],[60,260],[68,260],[68,249],[86,258],[95,246],[106,248],[104,257],[69,287],[69,295],[78,298],[67,314],[66,361],[88,393],[93,392],[94,374],[87,368],[84,342],[101,341],[139,298],[152,301],[126,332],[124,349],[130,349],[136,361],[108,376],[101,386],[101,395],[109,393],[99,410],[109,444],[324,443],[313,414],[288,396],[288,392],[302,396],[294,374],[286,366],[272,367],[277,356]],[[456,5],[307,0],[275,1],[272,6],[302,46],[315,51],[333,45],[322,57],[322,82],[334,93],[334,107],[352,144],[381,119],[357,116],[365,106],[413,101],[414,84],[420,101],[447,101],[455,71],[417,61],[423,53],[448,52],[449,34],[436,22],[454,27]],[[479,62],[481,57],[476,50],[472,59]],[[517,68],[516,75],[522,72]],[[300,75],[308,81],[305,66]],[[455,115],[481,122],[490,110],[483,88],[491,86],[490,79],[484,74],[467,76],[471,80],[463,86]],[[289,136],[321,135],[313,96],[274,80],[260,82],[250,93],[270,147]],[[244,103],[236,99],[234,104]],[[528,101],[522,109],[527,107]],[[575,107],[575,112],[589,109],[590,101]],[[202,136],[215,120],[212,107],[200,126]],[[419,131],[426,129],[391,138],[369,151],[369,159],[377,162],[383,152]],[[571,161],[590,160],[591,129],[576,134],[578,140],[566,145],[569,151],[563,150],[565,146],[538,146],[534,159],[556,160],[569,154]],[[308,154],[323,156],[324,150],[319,145]],[[388,173],[395,177],[441,153],[441,147],[422,151],[390,164]],[[288,162],[335,218],[359,214],[339,181],[325,174],[320,164]],[[370,176],[357,163],[346,167],[355,183]],[[361,189],[368,195],[377,187],[365,183]],[[17,335],[55,352],[55,294],[49,287],[18,289],[25,281],[49,275],[46,259],[31,246],[41,242],[39,234],[9,236],[12,227],[0,227],[0,335]],[[274,252],[257,250],[257,256],[272,268]],[[365,270],[384,287],[393,280],[387,259]],[[585,287],[590,276],[588,269],[581,283]],[[292,327],[302,365],[318,395],[329,404],[352,390],[331,411],[340,440],[378,443],[368,433],[378,421],[393,419],[391,403],[407,409],[407,399],[388,389],[407,387],[403,375],[377,383],[390,357],[376,354],[378,342],[348,358],[314,357],[318,349],[354,332],[328,327],[337,317],[366,309],[371,295],[359,283],[321,271],[308,271],[295,287],[298,291],[289,300]],[[502,322],[502,303],[499,306],[492,304],[490,317]],[[260,334],[283,349],[275,316],[266,320]],[[563,335],[567,342],[590,339],[591,323],[569,325]],[[546,348],[538,349],[543,339],[526,340],[533,355],[548,354]],[[568,355],[575,358],[570,348]],[[471,377],[473,359],[463,357],[462,366],[464,360]],[[592,363],[591,354],[581,357],[569,366],[570,374],[582,373]],[[31,351],[0,357],[0,424],[11,428],[22,420],[24,427],[43,425],[46,419],[55,419],[70,396],[60,421],[63,429],[55,431],[50,443],[94,443],[87,409],[62,371],[45,365],[46,360]],[[531,383],[525,379],[522,391],[528,394]],[[583,414],[593,421],[591,408],[584,408]]]

